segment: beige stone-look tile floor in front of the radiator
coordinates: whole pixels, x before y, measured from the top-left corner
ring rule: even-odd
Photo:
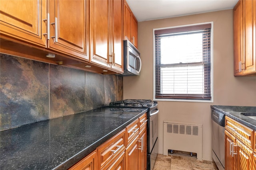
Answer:
[[[153,170],[218,170],[212,161],[196,160],[196,156],[174,153],[158,154]]]

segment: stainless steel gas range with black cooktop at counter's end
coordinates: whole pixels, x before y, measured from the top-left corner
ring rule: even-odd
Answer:
[[[152,170],[158,153],[158,108],[152,100],[127,99],[110,103],[110,107],[140,107],[147,108],[147,169]]]

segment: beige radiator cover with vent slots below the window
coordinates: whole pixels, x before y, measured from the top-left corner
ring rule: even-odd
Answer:
[[[164,155],[168,150],[196,153],[202,160],[202,125],[164,121]]]

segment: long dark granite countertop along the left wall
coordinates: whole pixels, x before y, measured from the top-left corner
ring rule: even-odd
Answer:
[[[67,169],[147,109],[102,107],[0,132],[0,169]]]

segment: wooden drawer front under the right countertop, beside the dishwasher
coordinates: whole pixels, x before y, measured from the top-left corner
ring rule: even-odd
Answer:
[[[225,117],[225,129],[229,131],[232,135],[242,141],[250,149],[253,149],[254,143],[254,132],[252,129],[246,127],[245,125],[238,123],[230,117]]]

